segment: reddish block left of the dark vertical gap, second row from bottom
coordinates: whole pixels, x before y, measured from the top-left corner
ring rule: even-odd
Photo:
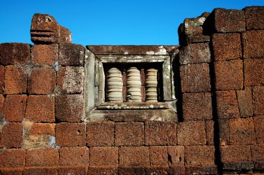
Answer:
[[[185,165],[212,167],[215,165],[214,146],[186,146]]]

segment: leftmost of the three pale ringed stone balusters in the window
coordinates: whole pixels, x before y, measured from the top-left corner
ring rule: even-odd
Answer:
[[[107,75],[107,99],[113,102],[123,101],[122,88],[122,74],[119,69],[115,67],[109,69]]]

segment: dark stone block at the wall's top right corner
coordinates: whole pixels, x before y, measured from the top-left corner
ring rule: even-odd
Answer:
[[[247,30],[264,29],[264,7],[251,6],[243,9],[245,11]]]

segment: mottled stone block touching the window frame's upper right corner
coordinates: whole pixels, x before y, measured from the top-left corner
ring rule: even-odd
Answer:
[[[188,44],[179,51],[181,65],[209,63],[211,52],[208,43]]]

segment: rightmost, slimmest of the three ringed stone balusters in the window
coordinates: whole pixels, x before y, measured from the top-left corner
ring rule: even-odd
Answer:
[[[158,79],[157,79],[158,70],[154,68],[147,69],[147,78],[146,78],[146,101],[147,102],[158,102]]]

